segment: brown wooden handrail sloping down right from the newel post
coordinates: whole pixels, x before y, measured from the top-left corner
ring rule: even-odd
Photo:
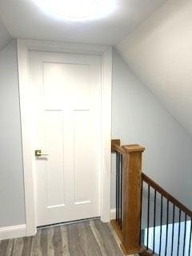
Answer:
[[[182,210],[185,214],[189,215],[190,218],[192,218],[192,211],[188,209],[186,206],[184,206],[181,202],[179,202],[176,198],[174,198],[171,194],[166,192],[162,188],[162,186],[159,186],[156,182],[154,182],[151,178],[149,178],[146,174],[142,173],[142,181],[146,182],[148,185],[154,188],[154,190],[157,190],[159,194],[162,194],[164,198],[166,198],[168,201],[172,202],[174,206],[177,206],[179,210]]]

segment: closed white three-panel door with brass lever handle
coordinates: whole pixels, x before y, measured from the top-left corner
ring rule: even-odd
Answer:
[[[100,215],[101,58],[30,51],[37,226]]]

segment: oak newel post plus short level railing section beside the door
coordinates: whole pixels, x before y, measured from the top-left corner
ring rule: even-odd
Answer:
[[[140,215],[142,188],[142,152],[139,145],[121,146],[112,140],[111,151],[116,154],[116,219],[111,223],[116,230],[125,254],[141,249]]]

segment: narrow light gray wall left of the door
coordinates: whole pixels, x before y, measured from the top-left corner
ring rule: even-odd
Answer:
[[[24,224],[16,42],[0,51],[0,227]]]

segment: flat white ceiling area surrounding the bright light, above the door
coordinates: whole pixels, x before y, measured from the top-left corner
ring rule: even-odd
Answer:
[[[117,9],[113,14],[90,22],[56,20],[39,10],[31,0],[1,0],[0,17],[14,38],[115,45],[166,0],[116,1]]]

